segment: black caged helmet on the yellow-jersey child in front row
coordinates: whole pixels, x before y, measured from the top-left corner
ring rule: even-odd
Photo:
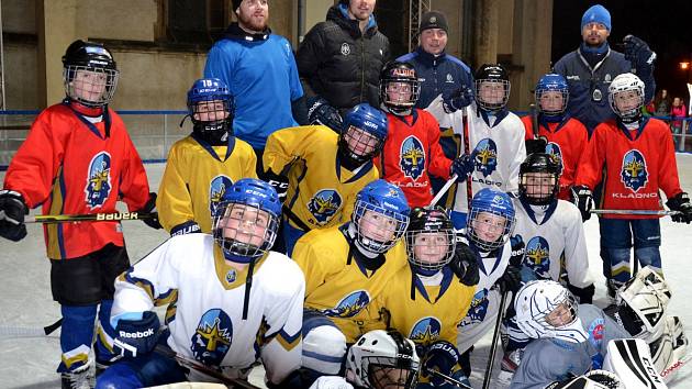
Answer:
[[[405,234],[409,263],[415,273],[432,276],[451,262],[455,253],[455,232],[447,212],[414,208]]]

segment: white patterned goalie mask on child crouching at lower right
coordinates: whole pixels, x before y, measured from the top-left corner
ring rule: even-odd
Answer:
[[[581,343],[589,337],[577,315],[577,299],[556,281],[526,284],[516,293],[514,309],[516,324],[531,337],[555,337],[571,343]],[[565,313],[569,318],[565,319]]]

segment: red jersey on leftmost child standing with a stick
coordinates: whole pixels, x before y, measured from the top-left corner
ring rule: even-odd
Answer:
[[[119,198],[136,211],[149,197],[142,159],[120,116],[109,110],[91,123],[66,103],[38,114],[10,163],[4,188],[22,193],[30,208],[43,204],[43,214],[115,212]],[[124,244],[119,222],[44,224],[44,234],[52,259]]]

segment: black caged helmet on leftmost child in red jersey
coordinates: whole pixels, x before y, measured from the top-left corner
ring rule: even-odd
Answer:
[[[67,97],[89,108],[111,102],[119,71],[113,55],[102,44],[72,42],[63,56],[63,82]]]

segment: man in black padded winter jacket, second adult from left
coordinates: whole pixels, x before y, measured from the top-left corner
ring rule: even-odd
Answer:
[[[339,113],[360,102],[379,107],[380,69],[389,40],[377,29],[376,0],[342,0],[308,32],[295,60],[309,119],[336,130]]]

